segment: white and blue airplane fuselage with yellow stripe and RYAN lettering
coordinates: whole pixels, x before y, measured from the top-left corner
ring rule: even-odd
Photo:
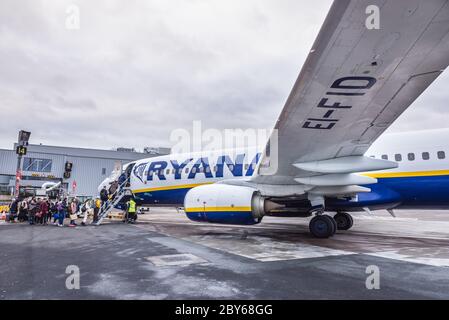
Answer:
[[[362,173],[377,178],[365,185],[368,193],[351,199],[329,199],[326,207],[358,211],[363,208],[449,208],[449,129],[381,136],[365,156],[392,160],[395,169]],[[136,161],[131,190],[141,204],[182,206],[193,187],[229,179],[250,179],[261,152],[224,150],[166,155]]]

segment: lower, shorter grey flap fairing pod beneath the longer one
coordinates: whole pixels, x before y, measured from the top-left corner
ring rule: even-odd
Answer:
[[[333,173],[320,176],[295,178],[295,181],[312,186],[347,186],[377,183],[377,179],[355,173]]]

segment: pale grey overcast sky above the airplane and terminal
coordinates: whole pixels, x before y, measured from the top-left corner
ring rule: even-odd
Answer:
[[[0,148],[20,129],[31,143],[142,149],[194,120],[271,128],[330,4],[2,0]],[[446,127],[448,87],[446,72],[389,131]]]

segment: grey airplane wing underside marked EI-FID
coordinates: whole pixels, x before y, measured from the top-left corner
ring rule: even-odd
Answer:
[[[253,181],[304,183],[298,177],[366,168],[354,156],[362,156],[448,64],[449,1],[335,1],[275,125],[277,169],[259,170]],[[270,150],[273,161],[273,141]],[[320,160],[328,160],[327,167]],[[325,170],[313,169],[319,167]]]

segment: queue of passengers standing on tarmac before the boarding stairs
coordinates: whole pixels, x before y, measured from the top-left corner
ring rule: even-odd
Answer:
[[[6,222],[28,222],[30,225],[47,225],[53,223],[64,226],[64,219],[69,219],[69,227],[77,226],[78,216],[82,216],[81,225],[87,224],[89,216],[93,216],[92,223],[98,221],[101,208],[100,198],[88,199],[81,203],[77,198],[70,201],[67,198],[51,200],[46,197],[28,197],[13,199],[6,215]]]

